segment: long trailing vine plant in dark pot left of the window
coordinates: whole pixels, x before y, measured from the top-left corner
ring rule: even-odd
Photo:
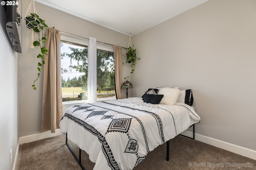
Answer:
[[[37,55],[37,58],[41,59],[41,61],[37,64],[37,69],[39,72],[37,74],[37,78],[34,80],[34,83],[32,85],[34,90],[36,90],[35,82],[40,77],[43,65],[45,64],[44,55],[47,55],[46,53],[48,52],[48,50],[44,47],[44,43],[47,41],[46,34],[43,33],[44,29],[47,28],[48,25],[44,23],[45,20],[42,20],[37,14],[34,13],[30,13],[30,16],[27,16],[25,20],[27,27],[38,34],[38,40],[33,42],[33,47],[40,47],[41,49],[41,53]]]

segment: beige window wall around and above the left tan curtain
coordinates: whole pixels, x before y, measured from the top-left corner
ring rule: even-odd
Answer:
[[[22,0],[22,16],[24,18],[30,0]],[[120,45],[128,45],[128,35],[123,35],[110,29],[106,29],[94,23],[76,18],[53,8],[36,3],[36,10],[40,18],[46,20],[49,27],[55,27],[60,31],[79,35],[82,37],[96,37],[97,41]],[[37,76],[37,63],[39,48],[30,49],[30,29],[25,27],[22,21],[22,55],[20,56],[20,83],[19,83],[19,137],[39,133],[42,112],[42,75],[36,82],[37,90],[33,90],[32,84]],[[36,39],[36,34],[34,34]]]

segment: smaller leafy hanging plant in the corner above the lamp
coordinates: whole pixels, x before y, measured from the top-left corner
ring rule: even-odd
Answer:
[[[137,50],[134,49],[134,44],[131,45],[131,46],[128,47],[128,48],[125,48],[125,49],[127,49],[127,52],[126,52],[126,61],[125,61],[123,64],[129,63],[129,64],[131,64],[131,67],[132,67],[132,70],[131,70],[131,72],[130,72],[130,75],[124,78],[124,79],[127,79],[127,80],[128,80],[128,79],[132,76],[132,74],[134,73],[134,68],[135,68],[135,66],[136,66],[136,60],[138,60],[138,59],[140,59],[140,58],[138,58],[138,57],[136,56]]]

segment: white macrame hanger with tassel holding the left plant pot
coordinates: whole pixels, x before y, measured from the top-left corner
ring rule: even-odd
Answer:
[[[31,13],[31,8],[32,8],[32,5],[33,5],[33,10],[34,10],[34,14],[37,14],[36,12],[36,5],[35,5],[35,2],[34,0],[31,0],[29,6],[28,6],[28,10],[26,12],[26,15],[25,15],[25,20],[26,20],[26,27],[28,27],[29,29],[31,29],[31,40],[30,40],[30,48],[34,49],[34,31],[33,31],[33,23],[32,22],[36,22],[36,20],[31,20],[31,18],[27,17],[28,16],[28,12],[29,14]]]

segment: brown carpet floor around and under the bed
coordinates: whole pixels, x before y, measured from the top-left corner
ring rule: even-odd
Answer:
[[[16,170],[80,170],[65,144],[65,135],[20,145]],[[69,142],[78,154],[78,147]],[[82,151],[82,164],[92,170],[94,163]],[[170,160],[166,144],[149,152],[134,170],[256,170],[256,160],[178,135],[170,141]]]

